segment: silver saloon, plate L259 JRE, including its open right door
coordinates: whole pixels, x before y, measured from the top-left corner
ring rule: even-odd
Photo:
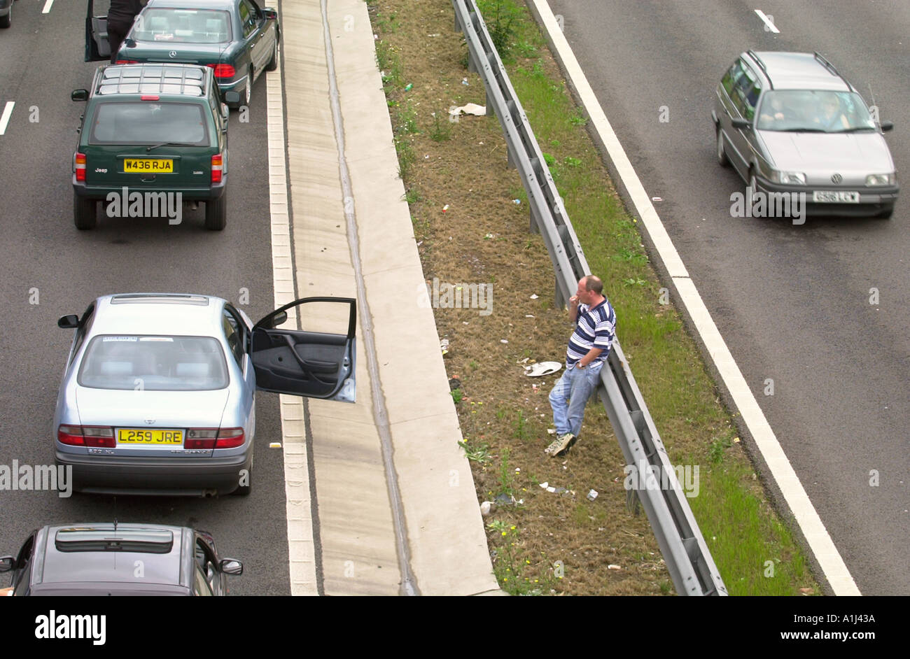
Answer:
[[[278,327],[288,310],[321,303],[349,305],[338,315],[346,334]],[[57,322],[76,336],[56,463],[72,466],[82,492],[249,494],[257,389],[354,402],[356,323],[345,297],[296,300],[256,325],[206,295],[99,297]]]

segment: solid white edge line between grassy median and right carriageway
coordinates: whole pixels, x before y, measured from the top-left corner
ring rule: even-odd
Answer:
[[[625,185],[626,190],[632,197],[632,203],[635,209],[642,217],[642,223],[645,225],[648,233],[652,236],[652,241],[663,264],[667,267],[673,283],[679,291],[682,305],[692,316],[696,331],[702,336],[708,354],[711,355],[717,371],[723,379],[730,394],[733,396],[733,402],[736,404],[740,413],[743,414],[743,423],[749,428],[755,444],[762,453],[763,460],[768,465],[774,481],[784,494],[784,499],[790,506],[794,514],[796,524],[799,524],[803,530],[806,542],[812,550],[818,564],[822,568],[824,576],[828,583],[831,584],[834,594],[838,595],[858,595],[859,588],[856,587],[853,576],[844,564],[844,559],[837,552],[831,535],[824,528],[821,518],[815,511],[814,505],[805,494],[803,485],[794,472],[793,465],[784,454],[784,449],[777,441],[777,437],[765,419],[761,407],[755,400],[755,396],[749,389],[743,378],[739,366],[733,359],[727,344],[723,341],[717,325],[711,314],[708,313],[701,295],[693,284],[682,265],[682,259],[672,245],[666,229],[664,229],[661,218],[651,203],[651,198],[645,193],[641,180],[635,173],[632,163],[630,163],[625,150],[620,144],[619,138],[613,132],[610,122],[607,121],[603,108],[594,95],[591,85],[575,54],[571,50],[569,42],[566,41],[562,34],[555,16],[547,5],[546,0],[532,0],[538,15],[541,16],[542,23],[550,33],[550,40],[555,45],[557,53],[562,61],[562,65],[571,80],[572,85],[578,91],[581,102],[591,117],[591,124],[601,137],[602,143],[606,146],[610,159]]]

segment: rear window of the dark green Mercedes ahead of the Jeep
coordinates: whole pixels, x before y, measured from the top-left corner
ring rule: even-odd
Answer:
[[[130,36],[168,44],[221,44],[230,41],[230,15],[217,9],[147,7]]]

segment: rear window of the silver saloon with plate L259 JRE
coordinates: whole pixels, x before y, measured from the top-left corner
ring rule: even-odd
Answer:
[[[95,389],[223,389],[227,363],[211,336],[99,335],[88,344],[77,382]]]

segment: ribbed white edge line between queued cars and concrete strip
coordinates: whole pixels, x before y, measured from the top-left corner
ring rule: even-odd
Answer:
[[[280,56],[280,55],[279,55]],[[266,73],[268,124],[268,208],[271,216],[272,282],[275,308],[295,299],[291,257],[288,176],[285,163],[284,100],[281,68]],[[296,309],[288,310],[282,325],[296,329]],[[281,438],[284,453],[285,497],[288,515],[288,569],[290,594],[316,595],[316,545],[310,510],[307,435],[303,399],[279,394]]]

